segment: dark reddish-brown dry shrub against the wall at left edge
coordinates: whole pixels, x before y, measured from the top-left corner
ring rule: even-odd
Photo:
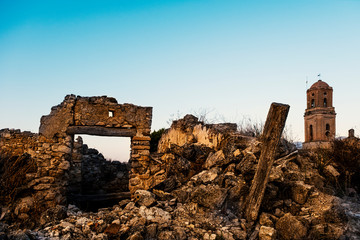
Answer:
[[[0,202],[8,204],[27,191],[26,174],[36,171],[29,154],[0,156]]]

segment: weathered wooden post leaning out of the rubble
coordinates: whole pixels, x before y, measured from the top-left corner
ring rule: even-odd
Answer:
[[[262,148],[259,163],[243,208],[245,209],[245,217],[249,222],[255,221],[258,216],[289,108],[289,105],[280,103],[272,103],[270,106],[261,135]]]

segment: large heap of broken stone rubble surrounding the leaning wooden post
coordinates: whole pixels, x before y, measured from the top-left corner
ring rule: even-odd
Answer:
[[[152,155],[159,169],[165,166],[165,180],[96,212],[75,205],[48,209],[30,229],[2,209],[0,239],[360,239],[356,190],[339,194],[337,166],[319,165],[286,141],[259,217],[246,221],[243,206],[260,151],[258,139],[231,125],[187,116],[165,132]]]

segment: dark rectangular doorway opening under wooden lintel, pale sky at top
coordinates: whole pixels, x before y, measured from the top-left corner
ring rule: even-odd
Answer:
[[[86,211],[110,207],[128,198],[130,137],[74,135],[82,142],[80,196],[77,205]]]

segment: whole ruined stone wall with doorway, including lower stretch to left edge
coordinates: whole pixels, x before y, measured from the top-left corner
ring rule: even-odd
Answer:
[[[82,172],[82,161],[89,158],[89,151],[84,152],[82,141],[74,140],[75,134],[131,138],[130,173],[127,176],[119,173],[111,179],[111,186],[105,184],[106,187],[99,187],[98,192],[112,191],[116,184],[123,184],[124,179],[129,178],[129,186],[119,186],[120,191],[129,189],[134,193],[137,189],[149,188],[151,118],[151,107],[118,104],[114,98],[106,96],[68,95],[52,108],[50,115],[41,118],[39,134],[0,130],[1,158],[28,154],[36,165],[36,170],[26,174],[26,188],[30,194],[17,200],[21,203],[17,206],[23,206],[17,214],[27,214],[34,203],[46,209],[66,203],[69,193],[81,193],[82,178],[89,176],[89,171]],[[110,166],[103,160],[95,159],[98,168],[129,170],[126,166]],[[89,163],[88,159],[86,164]]]

